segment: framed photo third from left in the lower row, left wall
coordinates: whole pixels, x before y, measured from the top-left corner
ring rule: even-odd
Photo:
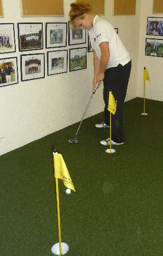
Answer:
[[[47,75],[67,73],[68,50],[47,52]]]

